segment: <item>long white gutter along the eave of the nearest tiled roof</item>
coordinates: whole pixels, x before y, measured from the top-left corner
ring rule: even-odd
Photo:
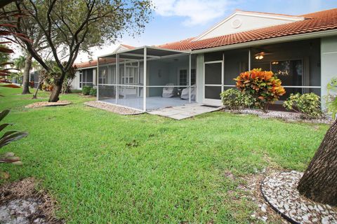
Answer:
[[[337,29],[330,29],[330,30],[324,30],[324,31],[316,31],[306,34],[296,34],[291,36],[281,36],[281,37],[275,37],[275,38],[267,38],[263,40],[258,41],[249,41],[245,43],[236,43],[231,45],[223,45],[220,47],[215,48],[204,48],[200,50],[192,50],[192,54],[201,54],[204,52],[214,52],[219,50],[232,50],[237,48],[249,48],[256,45],[265,45],[270,43],[282,43],[282,42],[289,42],[289,41],[300,41],[310,38],[322,38],[327,36],[337,36]]]

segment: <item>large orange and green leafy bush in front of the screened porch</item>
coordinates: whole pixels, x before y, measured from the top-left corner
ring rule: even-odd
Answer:
[[[272,71],[253,69],[239,74],[234,80],[237,81],[237,88],[251,95],[255,99],[255,106],[263,111],[286,92],[281,80]]]

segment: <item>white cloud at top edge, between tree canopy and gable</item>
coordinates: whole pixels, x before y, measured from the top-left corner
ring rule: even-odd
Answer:
[[[222,17],[230,5],[230,0],[152,0],[156,13],[162,16],[185,17],[183,25],[204,25]]]

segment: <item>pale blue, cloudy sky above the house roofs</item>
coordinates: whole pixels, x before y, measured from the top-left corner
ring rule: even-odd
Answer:
[[[264,13],[303,15],[337,8],[337,0],[152,0],[152,20],[140,36],[123,36],[116,43],[93,48],[92,58],[113,52],[120,43],[140,47],[159,45],[198,36],[234,13],[235,9]],[[76,62],[86,62],[89,55],[80,53]]]

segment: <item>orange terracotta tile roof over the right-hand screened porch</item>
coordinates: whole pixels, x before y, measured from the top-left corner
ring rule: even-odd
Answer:
[[[227,34],[225,36],[218,36],[200,41],[192,41],[192,38],[188,38],[183,41],[159,45],[158,47],[171,50],[198,50],[281,36],[291,36],[295,34],[337,29],[337,8],[301,16],[303,16],[305,20],[290,22],[284,25],[275,25],[272,27],[242,31],[235,34]]]

